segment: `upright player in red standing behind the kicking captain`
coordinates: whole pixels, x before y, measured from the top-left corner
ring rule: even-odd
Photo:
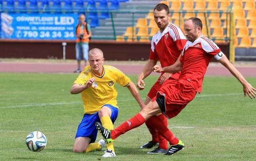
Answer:
[[[157,61],[160,61],[162,67],[167,67],[175,63],[178,59],[184,45],[186,44],[186,37],[182,33],[180,27],[170,23],[170,10],[166,4],[157,4],[154,8],[154,20],[160,29],[153,37],[151,41],[150,56],[148,62],[144,66],[142,73],[138,76],[137,87],[140,90],[144,89],[144,79],[150,75],[152,68],[156,65]],[[167,79],[170,79],[175,83],[178,81],[179,75],[171,75],[170,73],[161,73],[156,83],[151,87],[145,100],[145,104],[148,104],[155,96],[162,83]],[[164,121],[164,125],[167,126],[167,118],[163,114],[157,115]],[[142,145],[140,148],[152,148],[158,147],[148,154],[166,153],[168,144],[166,139],[158,134],[154,122],[146,121],[146,126],[152,135],[152,140]]]

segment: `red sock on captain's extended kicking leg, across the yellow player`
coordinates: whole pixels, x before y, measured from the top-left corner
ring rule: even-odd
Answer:
[[[146,120],[141,116],[140,113],[136,114],[129,120],[123,122],[120,126],[111,130],[111,138],[116,139],[119,135],[128,132],[138,126],[142,125]]]

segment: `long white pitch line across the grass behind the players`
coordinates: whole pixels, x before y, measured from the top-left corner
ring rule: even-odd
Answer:
[[[242,93],[226,93],[226,94],[198,94],[196,97],[212,97],[212,96],[232,96],[232,95],[242,95]],[[118,102],[130,101],[131,99],[118,100]],[[55,105],[64,105],[64,104],[82,104],[81,102],[52,102],[52,103],[40,103],[40,104],[24,104],[16,106],[0,106],[0,108],[22,108],[22,107],[38,107],[38,106],[55,106]]]

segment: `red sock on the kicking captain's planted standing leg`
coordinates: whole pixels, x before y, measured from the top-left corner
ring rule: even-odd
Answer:
[[[178,144],[179,140],[176,138],[172,132],[168,129],[167,126],[164,125],[164,121],[160,119],[158,116],[152,116],[148,120],[154,122],[156,129],[158,130],[158,133],[162,135],[167,141],[170,142],[170,145],[176,145]]]

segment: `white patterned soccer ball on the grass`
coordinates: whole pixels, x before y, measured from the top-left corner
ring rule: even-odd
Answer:
[[[46,146],[47,140],[42,132],[30,132],[26,137],[26,145],[31,151],[39,152]]]

